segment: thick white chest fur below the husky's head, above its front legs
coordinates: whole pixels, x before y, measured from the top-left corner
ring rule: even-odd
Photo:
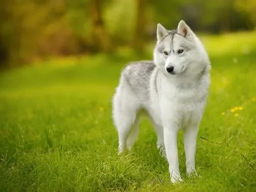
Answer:
[[[208,74],[191,82],[163,78],[160,87],[159,107],[163,121],[175,121],[182,128],[201,120],[209,87]]]

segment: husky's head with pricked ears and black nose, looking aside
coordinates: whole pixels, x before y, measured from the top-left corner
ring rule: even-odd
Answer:
[[[155,64],[166,75],[196,75],[209,65],[208,55],[191,28],[180,21],[176,30],[157,25]]]

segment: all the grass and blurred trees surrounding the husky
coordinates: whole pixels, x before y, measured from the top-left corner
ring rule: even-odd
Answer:
[[[150,121],[117,155],[111,98],[127,62],[152,59],[157,23],[180,19],[205,45],[211,87],[204,180],[170,186]],[[255,27],[256,0],[0,0],[0,191],[256,191]]]

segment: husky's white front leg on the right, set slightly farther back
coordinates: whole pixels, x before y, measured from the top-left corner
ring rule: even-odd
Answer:
[[[195,170],[195,152],[196,138],[198,135],[198,125],[189,125],[183,133],[184,148],[186,153],[186,172],[189,176],[196,174]]]

